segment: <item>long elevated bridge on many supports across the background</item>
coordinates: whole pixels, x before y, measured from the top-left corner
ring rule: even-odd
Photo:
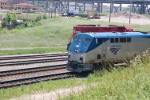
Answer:
[[[122,11],[122,4],[131,5],[133,13],[150,14],[150,0],[26,0],[29,3],[42,6],[45,11],[49,9],[57,9],[59,12],[69,12],[70,6],[75,10],[85,12],[88,10],[95,10],[103,12],[103,4],[110,3],[113,12]],[[115,6],[119,4],[119,6]],[[86,5],[91,5],[87,8]]]

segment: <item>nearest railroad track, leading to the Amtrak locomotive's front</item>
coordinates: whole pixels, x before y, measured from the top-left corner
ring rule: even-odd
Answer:
[[[73,76],[70,75],[69,72],[64,72],[64,73],[57,73],[57,74],[50,74],[50,75],[42,75],[37,77],[28,77],[28,78],[21,78],[21,79],[9,80],[9,81],[2,81],[0,82],[0,89],[20,86],[20,85],[28,85],[28,84],[41,82],[41,81],[66,79],[70,77]]]

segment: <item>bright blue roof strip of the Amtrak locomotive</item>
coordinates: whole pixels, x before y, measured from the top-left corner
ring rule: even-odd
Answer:
[[[78,36],[92,36],[95,38],[101,37],[150,37],[150,33],[146,32],[97,32],[97,33],[79,33]]]

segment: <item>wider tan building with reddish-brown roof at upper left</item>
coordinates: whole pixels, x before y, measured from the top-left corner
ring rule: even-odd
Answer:
[[[42,10],[42,7],[38,7],[36,5],[32,5],[32,4],[27,4],[27,3],[19,3],[19,4],[13,4],[12,5],[13,9],[22,9],[22,10],[26,10],[28,8],[28,10]]]

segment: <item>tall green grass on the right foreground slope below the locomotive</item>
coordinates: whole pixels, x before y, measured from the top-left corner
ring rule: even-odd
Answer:
[[[60,100],[149,100],[150,64],[113,69],[110,73],[98,72],[87,80],[97,84]],[[121,69],[121,70],[120,70]]]

